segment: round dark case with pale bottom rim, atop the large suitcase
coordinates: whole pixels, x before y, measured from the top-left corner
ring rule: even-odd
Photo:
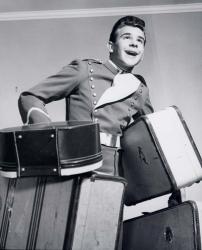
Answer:
[[[101,165],[97,123],[55,122],[0,130],[2,176],[63,176],[92,171]]]

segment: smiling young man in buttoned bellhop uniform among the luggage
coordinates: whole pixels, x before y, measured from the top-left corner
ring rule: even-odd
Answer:
[[[75,60],[19,98],[25,124],[50,122],[45,105],[66,99],[66,120],[89,120],[100,125],[105,174],[118,175],[120,136],[140,114],[153,112],[149,91],[134,67],[145,48],[145,23],[126,16],[110,34],[109,60]]]

